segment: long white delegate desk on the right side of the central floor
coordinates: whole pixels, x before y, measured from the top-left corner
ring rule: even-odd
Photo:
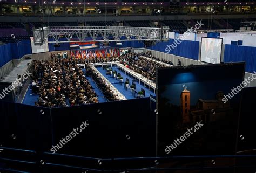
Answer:
[[[153,81],[145,78],[143,75],[136,73],[132,70],[130,70],[129,68],[126,68],[123,64],[117,63],[117,67],[120,71],[122,71],[125,74],[128,74],[129,76],[132,76],[132,79],[135,78],[135,80],[139,80],[139,84],[140,82],[143,82],[143,86],[145,87],[145,85],[149,86],[149,90],[150,88],[152,88],[154,90],[154,94],[156,94],[156,83],[154,83]]]

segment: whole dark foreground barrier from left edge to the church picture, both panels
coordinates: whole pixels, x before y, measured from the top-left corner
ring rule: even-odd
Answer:
[[[156,103],[150,98],[52,109],[0,100],[0,143],[52,152],[52,146],[87,121],[89,126],[57,153],[99,158],[152,157],[156,148],[155,109]]]

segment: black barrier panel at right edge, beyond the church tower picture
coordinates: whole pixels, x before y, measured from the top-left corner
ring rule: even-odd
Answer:
[[[238,134],[238,151],[253,150],[256,148],[255,98],[256,87],[243,89]]]

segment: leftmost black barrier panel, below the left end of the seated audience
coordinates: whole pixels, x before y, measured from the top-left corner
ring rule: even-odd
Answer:
[[[51,144],[49,108],[1,101],[0,109],[0,144],[29,150]]]

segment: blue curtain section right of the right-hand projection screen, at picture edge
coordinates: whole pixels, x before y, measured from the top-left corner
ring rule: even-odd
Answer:
[[[256,71],[256,47],[225,45],[224,62],[246,61],[246,72]]]

